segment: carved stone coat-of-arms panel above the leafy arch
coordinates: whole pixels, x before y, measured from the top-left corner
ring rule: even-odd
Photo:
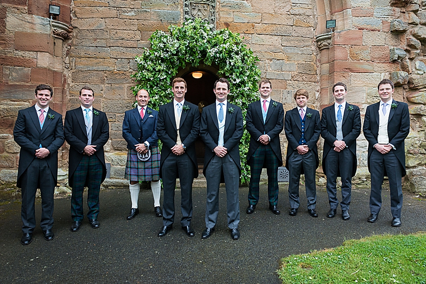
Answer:
[[[183,0],[183,19],[200,18],[205,23],[216,27],[216,0]]]

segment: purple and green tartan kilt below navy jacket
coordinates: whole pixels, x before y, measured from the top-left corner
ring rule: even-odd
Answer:
[[[160,179],[160,151],[151,147],[151,157],[143,162],[138,159],[136,150],[127,150],[124,178],[132,181],[150,181]]]

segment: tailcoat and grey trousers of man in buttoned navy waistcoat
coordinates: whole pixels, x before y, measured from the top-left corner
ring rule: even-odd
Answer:
[[[310,117],[309,117],[310,116]],[[299,181],[300,175],[305,174],[306,197],[308,209],[315,209],[317,194],[315,184],[315,170],[318,168],[317,142],[321,133],[320,115],[317,110],[306,109],[305,140],[309,151],[300,155],[297,147],[302,137],[302,123],[297,108],[288,111],[284,119],[284,131],[288,140],[286,168],[289,170],[289,201],[291,208],[299,208]]]

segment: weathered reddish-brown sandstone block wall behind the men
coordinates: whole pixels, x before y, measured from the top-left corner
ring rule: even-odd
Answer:
[[[189,0],[92,1],[63,3],[70,7],[72,39],[66,45],[50,38],[46,15],[38,9],[7,0],[0,5],[0,104],[10,111],[0,115],[0,179],[17,168],[17,149],[12,127],[19,108],[33,103],[33,89],[40,82],[55,88],[54,108],[64,113],[78,106],[78,91],[89,84],[95,90],[95,107],[108,115],[111,139],[106,159],[111,179],[106,186],[125,185],[126,143],[121,137],[124,112],[134,101],[130,75],[134,57],[149,48],[155,30],[180,25]],[[207,3],[209,1],[201,1]],[[26,2],[25,2],[26,3]],[[411,132],[406,140],[408,175],[404,186],[426,193],[426,3],[424,0],[221,0],[212,1],[216,28],[240,33],[259,57],[262,77],[272,81],[274,100],[285,110],[295,107],[293,93],[305,88],[309,104],[321,110],[333,102],[331,86],[348,85],[347,101],[361,113],[378,100],[377,83],[383,78],[397,82],[395,99],[407,102]],[[62,9],[61,9],[62,11]],[[62,12],[61,12],[62,13]],[[33,15],[36,14],[36,15]],[[185,14],[186,15],[186,14]],[[201,14],[199,14],[201,15]],[[213,14],[209,14],[210,16]],[[40,17],[41,16],[41,17]],[[21,21],[19,19],[25,19]],[[326,20],[336,20],[334,33]],[[65,24],[67,19],[59,19]],[[31,23],[31,24],[29,24]],[[29,34],[31,33],[31,34]],[[35,38],[38,40],[36,41]],[[33,44],[23,39],[31,39]],[[37,44],[35,44],[37,42]],[[49,78],[49,81],[46,81]],[[62,94],[57,96],[57,94]],[[24,97],[23,97],[24,96]],[[9,101],[13,101],[10,104]],[[281,135],[283,154],[287,141]],[[322,142],[320,142],[322,143]],[[60,155],[67,169],[67,145]],[[367,142],[358,139],[358,172],[354,183],[368,186]],[[14,152],[15,151],[15,152]],[[319,182],[323,182],[321,169]],[[6,179],[6,177],[5,177]]]

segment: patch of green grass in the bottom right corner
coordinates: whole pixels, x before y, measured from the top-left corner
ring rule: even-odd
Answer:
[[[277,272],[285,284],[426,284],[426,232],[375,235],[290,255],[281,260]]]

